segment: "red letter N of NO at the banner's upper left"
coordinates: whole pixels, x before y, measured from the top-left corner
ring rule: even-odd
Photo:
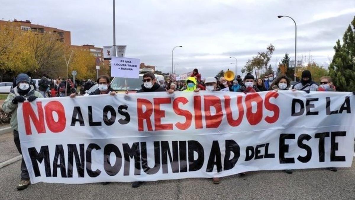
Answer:
[[[32,134],[31,123],[29,121],[30,117],[31,117],[31,120],[32,120],[37,132],[38,133],[45,133],[42,102],[37,101],[36,104],[37,104],[38,118],[37,118],[36,114],[34,113],[32,106],[29,102],[24,102],[22,104],[22,114],[23,114],[26,135]]]

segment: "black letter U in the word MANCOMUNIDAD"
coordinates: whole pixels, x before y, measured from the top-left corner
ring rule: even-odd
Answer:
[[[141,142],[142,169],[146,174],[155,174],[160,169],[160,143],[159,141],[155,141],[153,142],[153,144],[154,144],[154,167],[150,168],[148,166],[147,142]]]

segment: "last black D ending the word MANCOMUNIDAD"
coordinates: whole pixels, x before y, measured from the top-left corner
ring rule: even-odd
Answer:
[[[233,152],[234,154],[232,159],[229,159],[230,152]],[[223,170],[232,169],[235,166],[235,163],[237,163],[239,157],[240,157],[239,145],[234,140],[226,140]]]

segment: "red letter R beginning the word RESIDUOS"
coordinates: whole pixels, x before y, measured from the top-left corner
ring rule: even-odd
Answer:
[[[143,105],[146,111],[143,112]],[[152,122],[150,117],[153,113],[153,105],[147,99],[137,99],[137,118],[138,118],[138,131],[144,130],[143,120],[146,120],[148,131],[153,131]]]

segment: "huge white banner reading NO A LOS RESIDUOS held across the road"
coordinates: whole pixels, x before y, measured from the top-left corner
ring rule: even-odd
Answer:
[[[18,104],[31,183],[223,177],[350,167],[354,95],[166,92]]]

